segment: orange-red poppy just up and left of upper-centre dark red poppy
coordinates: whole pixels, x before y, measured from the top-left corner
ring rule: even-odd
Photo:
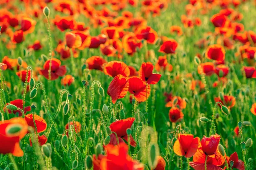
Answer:
[[[157,32],[150,26],[140,26],[135,31],[138,40],[146,40],[148,44],[155,44],[157,41]]]

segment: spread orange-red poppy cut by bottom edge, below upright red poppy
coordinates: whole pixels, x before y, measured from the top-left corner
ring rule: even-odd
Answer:
[[[215,150],[216,156],[215,157],[209,157],[207,156],[207,161],[206,161],[206,167],[207,170],[223,170],[221,167],[222,164],[224,164],[225,159],[224,156],[221,155],[221,153],[217,150]],[[206,155],[200,150],[198,150],[195,155],[193,156],[193,161],[189,162],[189,165],[194,168],[194,170],[204,170],[205,166],[205,159]]]

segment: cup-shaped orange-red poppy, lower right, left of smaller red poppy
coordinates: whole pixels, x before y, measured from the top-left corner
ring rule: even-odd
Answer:
[[[178,156],[185,156],[185,158],[192,157],[198,147],[200,147],[200,139],[190,134],[178,134],[178,139],[173,145],[174,153]]]

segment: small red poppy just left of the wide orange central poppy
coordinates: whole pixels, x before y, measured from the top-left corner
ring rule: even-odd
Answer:
[[[105,59],[99,56],[92,56],[86,60],[88,68],[90,70],[100,70],[103,71],[103,65],[106,63]]]

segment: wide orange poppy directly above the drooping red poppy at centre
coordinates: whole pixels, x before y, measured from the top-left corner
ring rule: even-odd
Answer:
[[[105,65],[104,73],[111,77],[116,77],[117,74],[121,74],[124,77],[129,77],[130,69],[124,62],[111,61]]]

